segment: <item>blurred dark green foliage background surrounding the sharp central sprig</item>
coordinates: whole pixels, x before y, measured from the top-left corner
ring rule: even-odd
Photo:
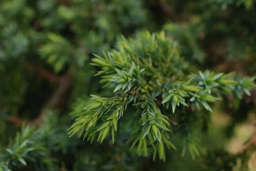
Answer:
[[[140,30],[164,30],[201,70],[255,75],[255,8],[255,0],[0,0],[0,171],[10,156],[19,159],[13,171],[243,171],[244,163],[252,171],[254,149],[238,153],[256,144],[256,90],[215,104],[212,123],[198,133],[211,151],[195,160],[181,157],[180,145],[164,164],[152,162],[129,152],[126,135],[115,145],[90,145],[67,129],[90,94],[109,94],[93,77],[92,54]],[[27,158],[29,136],[37,151]]]

